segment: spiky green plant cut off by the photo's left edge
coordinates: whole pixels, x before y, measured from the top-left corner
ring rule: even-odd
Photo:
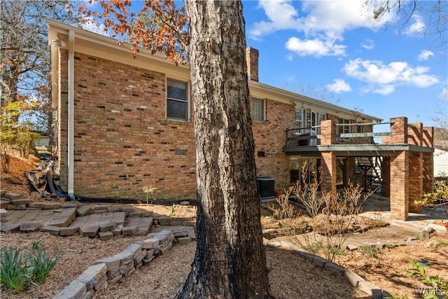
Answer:
[[[0,282],[6,288],[18,293],[30,283],[26,259],[23,257],[22,249],[13,246],[3,247],[1,254]]]

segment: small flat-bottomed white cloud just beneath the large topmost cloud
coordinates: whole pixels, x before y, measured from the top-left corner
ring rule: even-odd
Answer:
[[[307,56],[337,56],[345,55],[346,46],[337,44],[335,40],[306,39],[301,40],[297,37],[291,37],[286,42],[286,48],[297,55]]]

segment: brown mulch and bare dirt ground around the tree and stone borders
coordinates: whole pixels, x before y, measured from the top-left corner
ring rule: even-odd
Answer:
[[[36,166],[37,161],[11,158],[9,173],[1,172],[1,189],[19,193],[33,200],[45,200],[30,195],[23,172]],[[153,206],[158,214],[171,212],[171,207]],[[41,232],[0,235],[0,246],[20,246],[31,249],[37,239],[43,239],[45,248],[61,250],[64,255],[47,280],[40,286],[14,294],[1,287],[1,298],[51,298],[75,279],[94,260],[123,251],[129,244],[145,237],[122,237],[108,241],[81,237],[57,237]],[[429,240],[419,241],[417,246],[399,246],[379,251],[373,257],[363,251],[347,251],[337,256],[336,262],[349,268],[391,293],[407,294],[409,298],[422,298],[416,294],[417,287],[424,287],[421,279],[406,273],[409,261],[426,261],[427,274],[448,279],[448,235],[433,235]],[[135,270],[118,284],[106,286],[94,298],[172,298],[179,291],[190,270],[195,253],[195,243],[176,244],[152,263]],[[370,298],[309,261],[293,255],[290,251],[266,247],[267,258],[272,263],[269,283],[276,298]]]

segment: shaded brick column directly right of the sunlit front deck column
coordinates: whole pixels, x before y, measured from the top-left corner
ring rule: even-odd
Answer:
[[[421,200],[423,195],[423,153],[409,154],[409,208],[418,211],[414,200]]]

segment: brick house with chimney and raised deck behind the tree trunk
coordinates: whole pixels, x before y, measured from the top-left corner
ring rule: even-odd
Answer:
[[[133,57],[115,39],[52,20],[47,24],[61,188],[69,195],[143,199],[142,187],[154,185],[158,199],[194,199],[188,65],[175,66],[145,50]],[[395,160],[388,157],[395,151],[377,148],[372,154],[373,125],[381,119],[262,84],[258,50],[248,48],[246,59],[258,176],[274,179],[274,188],[282,189],[300,179],[302,165],[307,165],[309,180],[322,167],[322,188],[336,190],[349,179],[367,187],[367,176],[370,184],[375,172],[381,172],[386,193],[389,185],[395,190],[388,183],[389,172],[395,171],[388,162]],[[409,127],[405,118],[394,121],[391,131],[397,126]],[[421,142],[421,124],[416,130],[420,141],[414,151],[430,152],[432,159],[432,144]],[[414,156],[409,148],[402,151],[408,153],[404,159]],[[380,169],[375,165],[378,158],[385,161]],[[408,160],[400,167],[413,165],[412,158]],[[384,168],[388,163],[390,171]],[[423,182],[423,170],[418,176]],[[400,206],[399,214],[407,217],[410,187],[400,188],[407,205]]]

